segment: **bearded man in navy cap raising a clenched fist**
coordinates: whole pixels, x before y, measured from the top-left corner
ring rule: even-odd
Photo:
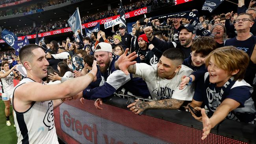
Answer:
[[[185,58],[189,57],[191,53],[191,44],[192,40],[195,37],[195,28],[190,24],[185,24],[178,28],[179,31],[179,40],[180,42],[165,42],[154,37],[153,30],[151,26],[148,26],[144,29],[145,34],[148,37],[148,40],[154,45],[157,46],[158,50],[164,52],[169,48],[179,48],[185,54]]]

